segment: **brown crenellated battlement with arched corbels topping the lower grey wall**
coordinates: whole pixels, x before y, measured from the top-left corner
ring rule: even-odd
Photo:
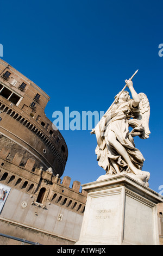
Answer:
[[[73,181],[70,187],[71,178],[64,176],[61,180],[59,175],[55,176],[52,168],[47,170],[43,167],[36,168],[35,160],[29,158],[24,166],[21,166],[23,154],[16,153],[11,155],[11,151],[4,147],[0,151],[0,182],[29,193],[34,197],[33,205],[45,206],[53,203],[66,207],[72,211],[78,211],[79,214],[84,213],[87,192],[80,192],[80,182]],[[46,191],[43,201],[40,201],[39,194]],[[38,201],[38,202],[37,202]]]

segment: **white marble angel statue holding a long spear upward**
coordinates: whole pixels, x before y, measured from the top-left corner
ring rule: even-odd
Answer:
[[[95,129],[92,129],[91,134],[96,134],[97,161],[99,166],[106,170],[106,175],[126,172],[130,176],[137,177],[141,184],[148,186],[150,174],[142,171],[145,159],[140,150],[135,148],[133,137],[139,136],[142,139],[149,137],[150,107],[147,96],[135,92],[131,81],[134,75],[129,80],[125,80],[124,87],[129,88],[133,99],[130,99],[128,91],[123,88],[115,96],[115,101]],[[130,132],[129,126],[133,128]]]

